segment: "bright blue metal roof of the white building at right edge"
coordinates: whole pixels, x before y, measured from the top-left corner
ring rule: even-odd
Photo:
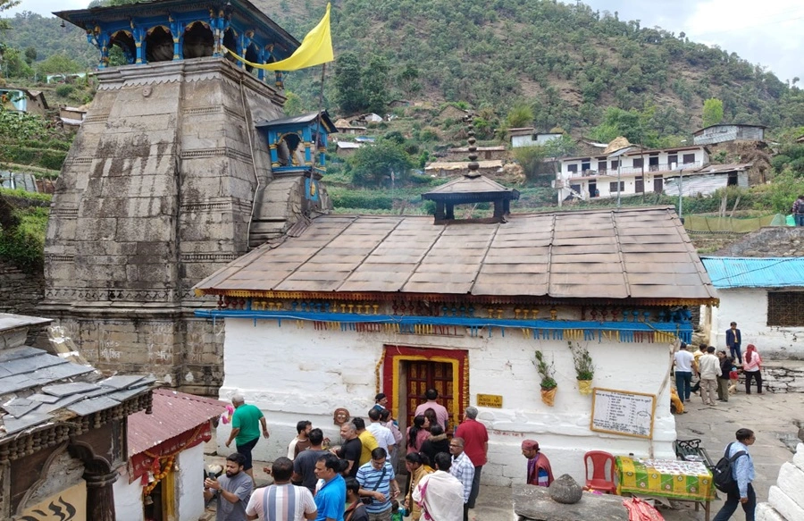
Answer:
[[[804,287],[804,257],[708,256],[700,260],[718,290]]]

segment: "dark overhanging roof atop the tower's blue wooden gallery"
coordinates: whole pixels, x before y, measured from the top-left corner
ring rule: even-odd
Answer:
[[[94,29],[96,23],[103,21],[128,20],[130,17],[147,20],[163,17],[167,20],[175,13],[208,12],[210,9],[222,10],[224,6],[231,7],[232,17],[239,21],[239,25],[252,26],[256,29],[262,29],[266,34],[272,34],[278,40],[277,43],[284,47],[285,53],[283,55],[292,54],[301,45],[288,31],[282,29],[279,24],[272,21],[255,4],[248,0],[217,0],[210,3],[188,2],[187,0],[153,0],[136,4],[59,11],[55,12],[54,15],[64,21],[69,21],[73,25],[77,25],[81,29]]]

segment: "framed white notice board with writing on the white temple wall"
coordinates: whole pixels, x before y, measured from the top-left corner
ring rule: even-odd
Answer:
[[[596,387],[592,394],[590,429],[637,438],[653,437],[656,396],[643,392]]]

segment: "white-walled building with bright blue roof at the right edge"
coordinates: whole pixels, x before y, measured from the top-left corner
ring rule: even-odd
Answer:
[[[804,257],[704,257],[720,299],[701,309],[709,343],[725,346],[737,323],[742,350],[752,343],[766,358],[804,359]]]

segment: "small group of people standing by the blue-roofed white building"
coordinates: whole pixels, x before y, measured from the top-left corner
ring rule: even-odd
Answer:
[[[743,357],[741,332],[734,322],[725,336],[728,352],[700,344],[699,349],[691,353],[683,342],[675,352],[676,412],[683,412],[683,405],[679,402],[689,402],[695,393],[699,393],[704,405],[708,406],[716,406],[716,401],[729,401],[729,395],[737,392],[740,372],[745,375],[746,394],[751,393],[752,383],[756,384],[757,393],[762,394],[762,357],[756,346],[748,344]],[[694,377],[698,382],[692,385]]]

